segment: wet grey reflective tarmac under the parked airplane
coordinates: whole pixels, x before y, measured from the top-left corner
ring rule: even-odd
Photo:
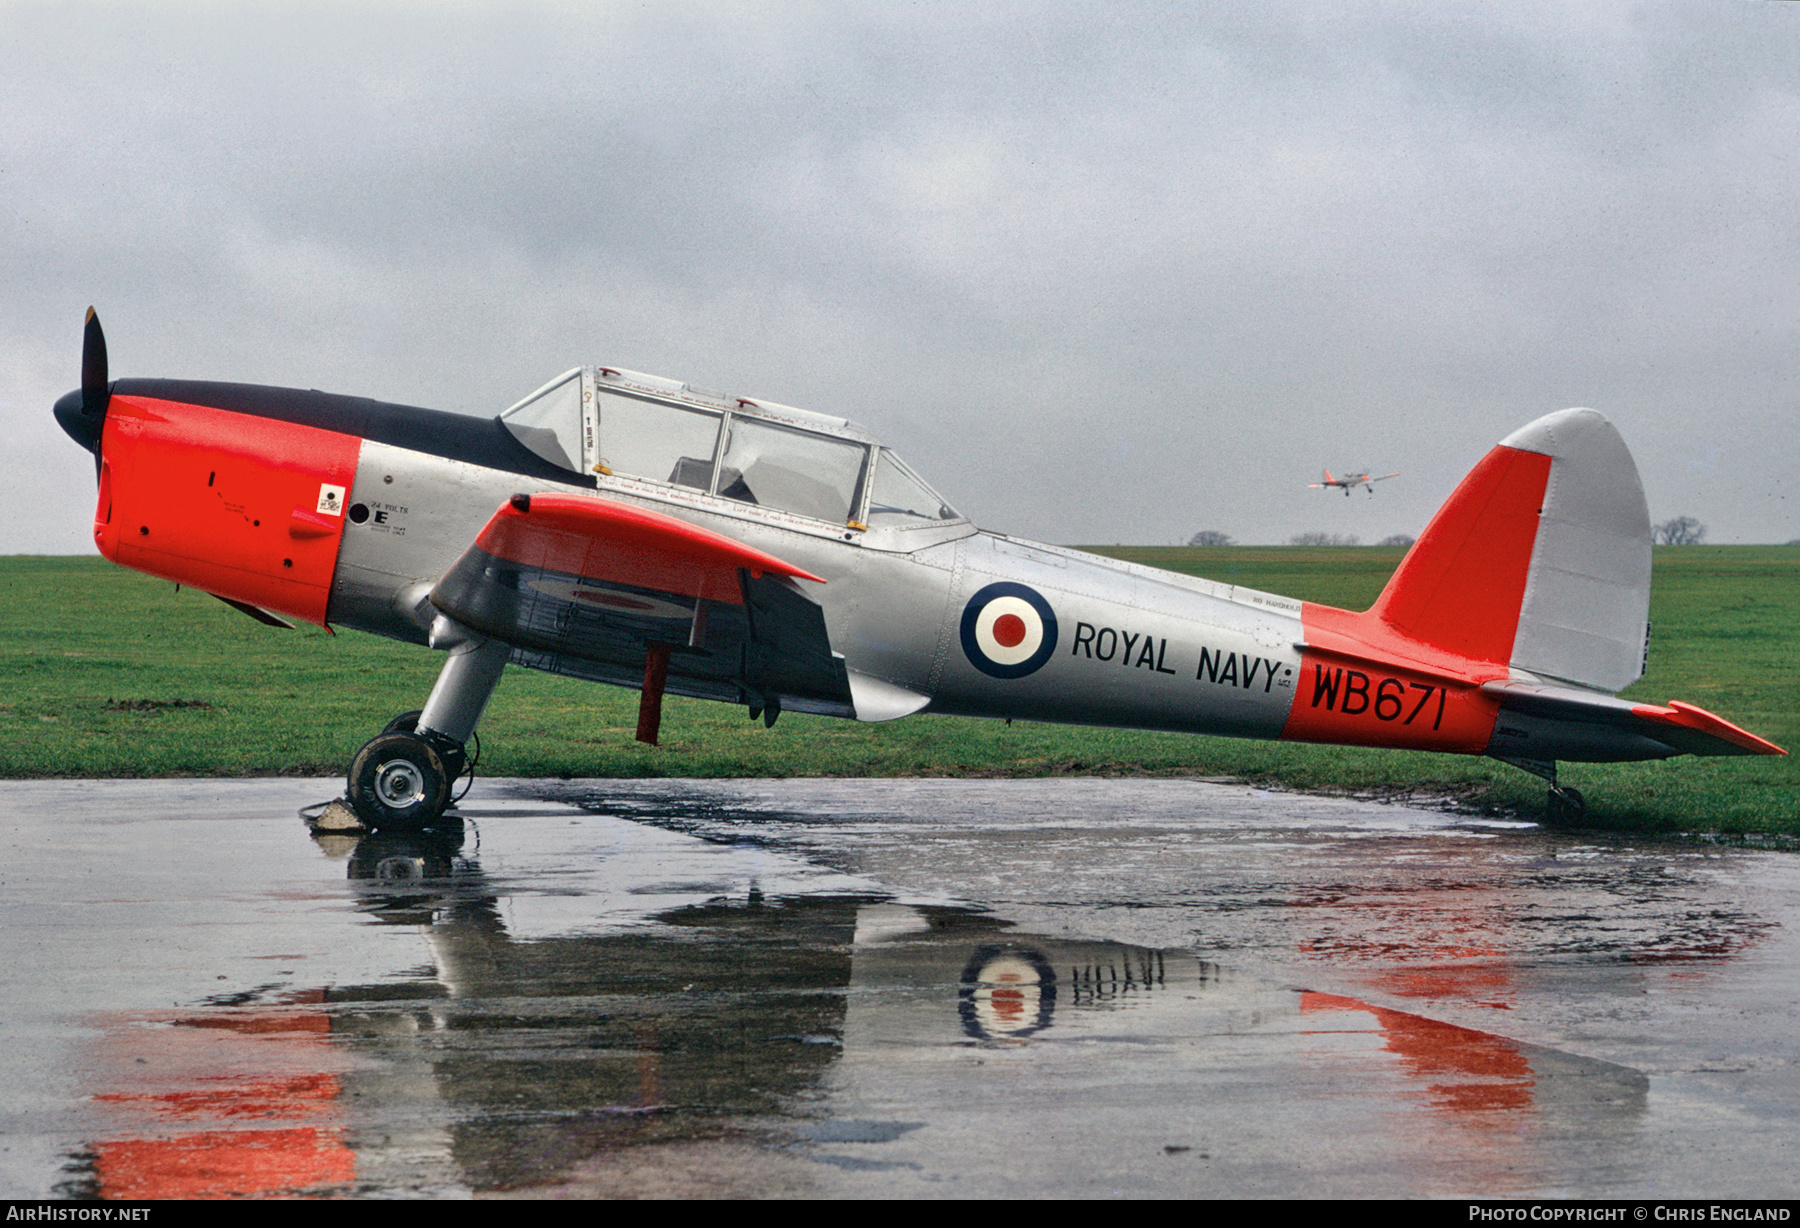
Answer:
[[[1199,781],[0,783],[7,1197],[1793,1197],[1800,859]]]

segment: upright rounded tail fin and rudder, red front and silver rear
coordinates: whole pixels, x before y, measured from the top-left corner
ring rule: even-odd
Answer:
[[[1507,436],[1431,519],[1370,616],[1469,661],[1616,691],[1642,673],[1651,517],[1602,414]]]

